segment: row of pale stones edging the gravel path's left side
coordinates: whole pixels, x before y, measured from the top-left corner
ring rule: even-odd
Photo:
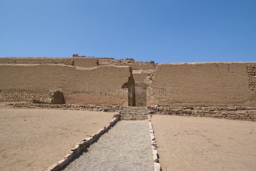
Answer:
[[[61,167],[65,166],[70,160],[75,156],[79,155],[83,150],[87,148],[90,144],[96,141],[102,134],[110,129],[111,126],[114,126],[118,121],[120,114],[115,114],[112,121],[109,122],[103,129],[100,129],[97,133],[92,134],[89,138],[84,138],[82,141],[78,142],[76,146],[71,149],[70,153],[64,156],[64,159],[60,160],[58,163],[49,166],[46,171],[58,171]]]

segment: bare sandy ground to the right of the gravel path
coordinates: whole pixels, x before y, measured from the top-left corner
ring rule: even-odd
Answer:
[[[153,115],[163,171],[256,170],[256,122]]]

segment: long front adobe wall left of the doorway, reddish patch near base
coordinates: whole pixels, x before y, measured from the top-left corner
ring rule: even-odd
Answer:
[[[63,92],[68,104],[128,106],[125,92],[134,85],[128,66],[0,64],[0,73],[0,102],[31,99],[47,102],[49,90],[57,89]]]

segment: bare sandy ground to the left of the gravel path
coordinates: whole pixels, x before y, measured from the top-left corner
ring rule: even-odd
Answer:
[[[0,108],[0,170],[45,170],[114,113]]]

